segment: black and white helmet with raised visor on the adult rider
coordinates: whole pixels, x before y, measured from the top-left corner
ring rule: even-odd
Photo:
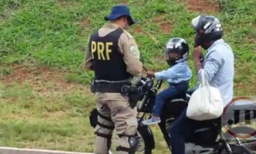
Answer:
[[[195,43],[198,46],[203,42],[221,39],[223,36],[220,20],[214,16],[199,15],[192,20],[192,26],[197,31]]]

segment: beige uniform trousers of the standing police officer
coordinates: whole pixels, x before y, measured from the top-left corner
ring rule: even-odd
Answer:
[[[98,122],[109,126],[105,128],[97,125],[95,128],[96,133],[104,135],[112,135],[115,126],[119,138],[118,144],[122,147],[130,148],[128,143],[128,136],[135,135],[138,127],[137,108],[131,108],[128,97],[121,95],[120,93],[95,93],[97,110],[99,114],[104,117],[111,118],[112,122],[98,116]],[[96,136],[95,154],[107,154],[110,148],[110,141],[107,138]],[[119,146],[118,145],[118,146]],[[119,154],[128,154],[125,151],[117,151]]]

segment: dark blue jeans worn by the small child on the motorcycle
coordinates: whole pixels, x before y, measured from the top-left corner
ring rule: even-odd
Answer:
[[[153,108],[152,114],[155,116],[160,116],[164,102],[170,100],[174,96],[177,96],[181,93],[185,93],[188,89],[188,83],[182,82],[179,84],[170,84],[170,86],[161,91],[156,97],[156,103]]]

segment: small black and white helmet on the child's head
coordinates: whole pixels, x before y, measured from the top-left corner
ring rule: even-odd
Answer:
[[[170,66],[187,60],[189,47],[187,42],[179,37],[171,38],[166,44],[165,60]]]

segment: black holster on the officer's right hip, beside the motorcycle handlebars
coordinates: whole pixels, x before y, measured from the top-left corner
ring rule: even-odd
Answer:
[[[121,94],[124,96],[128,96],[129,103],[131,108],[134,108],[138,101],[142,99],[141,90],[136,86],[123,86],[121,89]]]

